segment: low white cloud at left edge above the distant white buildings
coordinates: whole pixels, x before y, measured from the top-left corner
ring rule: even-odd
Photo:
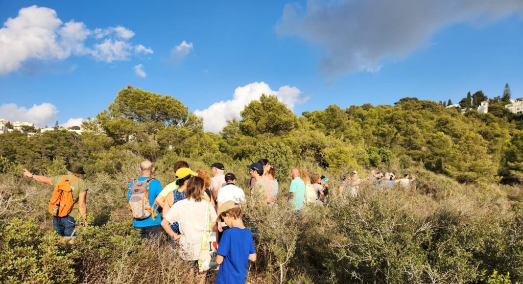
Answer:
[[[27,121],[38,127],[54,125],[57,112],[56,107],[49,103],[35,104],[29,109],[23,106],[18,107],[16,104],[0,106],[1,118],[10,121]]]

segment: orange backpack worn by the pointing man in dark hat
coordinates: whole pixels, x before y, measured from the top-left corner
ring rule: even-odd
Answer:
[[[71,183],[77,179],[79,178],[73,177],[67,179],[67,176],[64,175],[60,183],[56,184],[53,195],[51,196],[51,201],[49,201],[49,213],[51,213],[51,215],[65,217],[71,212],[74,205]]]

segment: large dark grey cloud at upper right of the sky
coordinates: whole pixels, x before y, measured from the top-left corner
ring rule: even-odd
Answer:
[[[521,0],[308,0],[287,4],[277,25],[327,51],[320,70],[327,76],[378,72],[385,58],[402,58],[435,31],[457,22],[491,22],[511,13],[523,16]]]

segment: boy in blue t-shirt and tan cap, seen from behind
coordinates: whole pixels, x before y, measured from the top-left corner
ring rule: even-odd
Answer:
[[[253,233],[245,228],[239,204],[227,201],[220,206],[217,222],[225,222],[231,229],[223,232],[218,245],[216,262],[220,265],[216,283],[245,283],[249,260],[256,261]]]

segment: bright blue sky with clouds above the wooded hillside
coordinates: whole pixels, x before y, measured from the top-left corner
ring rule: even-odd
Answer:
[[[501,95],[505,83],[513,98],[523,97],[523,4],[422,2],[2,1],[0,20],[18,21],[0,30],[13,39],[0,41],[0,65],[11,66],[0,69],[0,117],[36,124],[94,117],[127,85],[180,99],[210,131],[267,90],[298,115],[407,96],[457,103],[468,91]],[[61,24],[49,27],[53,17]],[[71,20],[89,33],[75,41],[78,51],[60,33]],[[38,49],[19,36],[41,39],[35,26],[56,38]],[[95,48],[104,40],[131,49],[110,59]]]

